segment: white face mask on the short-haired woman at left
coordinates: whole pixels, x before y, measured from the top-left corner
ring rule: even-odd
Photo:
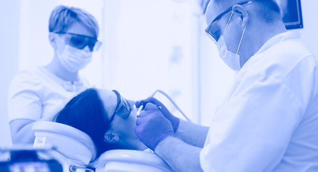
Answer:
[[[58,35],[58,39],[64,42]],[[80,50],[65,44],[62,53],[57,51],[57,57],[63,67],[70,72],[78,72],[80,69],[84,68],[92,60],[92,52]]]

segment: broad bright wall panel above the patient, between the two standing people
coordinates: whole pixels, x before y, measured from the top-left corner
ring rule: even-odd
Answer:
[[[109,0],[105,8],[103,86],[131,99],[162,89],[193,118],[192,26],[196,23],[190,4]]]

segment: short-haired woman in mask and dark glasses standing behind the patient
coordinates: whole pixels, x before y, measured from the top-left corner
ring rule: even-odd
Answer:
[[[79,8],[60,5],[51,13],[49,31],[53,60],[19,71],[9,87],[8,118],[14,144],[33,143],[33,123],[52,120],[61,104],[89,87],[79,70],[100,47],[96,19]]]

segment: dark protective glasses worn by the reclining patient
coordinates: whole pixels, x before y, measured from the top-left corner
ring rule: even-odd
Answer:
[[[118,91],[116,91],[116,90],[112,90],[112,91],[117,95],[117,106],[116,106],[115,112],[111,116],[110,120],[112,120],[115,115],[117,115],[123,119],[127,119],[128,116],[130,115],[130,113],[132,112],[131,105],[124,97],[122,97],[119,94]]]

